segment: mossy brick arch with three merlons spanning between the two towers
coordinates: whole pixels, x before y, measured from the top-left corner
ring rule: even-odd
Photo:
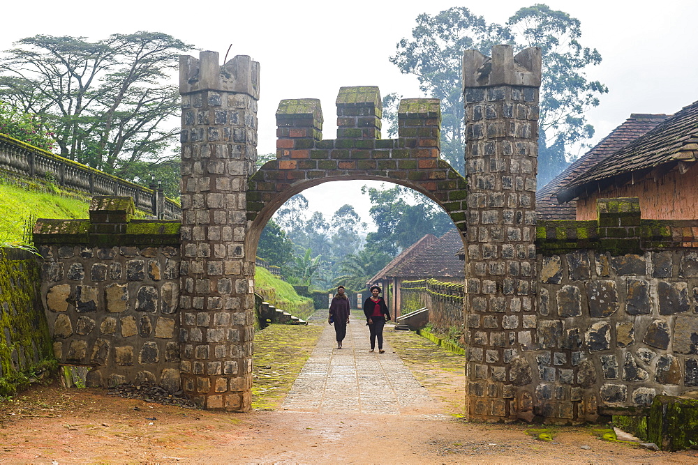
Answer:
[[[281,100],[277,159],[248,181],[248,257],[254,257],[262,229],[285,201],[329,181],[366,179],[414,189],[466,233],[466,180],[439,158],[439,100],[401,100],[397,139],[380,139],[381,116],[378,87],[343,87],[337,97],[337,139],[323,140],[319,100]]]

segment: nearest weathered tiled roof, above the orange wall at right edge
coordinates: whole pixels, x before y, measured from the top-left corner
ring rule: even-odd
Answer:
[[[698,102],[669,116],[598,165],[570,182],[557,193],[567,201],[588,192],[603,190],[611,183],[623,185],[633,174],[642,176],[660,165],[698,160]]]

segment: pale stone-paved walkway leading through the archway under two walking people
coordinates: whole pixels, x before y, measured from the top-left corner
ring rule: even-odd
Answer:
[[[392,330],[387,326],[384,333]],[[378,346],[373,353],[369,349],[364,319],[351,319],[342,349],[336,348],[334,327],[325,321],[318,345],[282,408],[318,413],[440,413],[426,388],[386,341],[385,353],[378,353]]]

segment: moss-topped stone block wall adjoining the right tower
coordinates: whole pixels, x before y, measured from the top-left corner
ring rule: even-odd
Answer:
[[[698,220],[642,220],[600,199],[597,221],[537,224],[535,411],[596,420],[698,386]]]

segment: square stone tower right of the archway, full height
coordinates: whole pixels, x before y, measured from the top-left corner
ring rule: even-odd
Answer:
[[[471,419],[533,418],[540,49],[463,54]]]

